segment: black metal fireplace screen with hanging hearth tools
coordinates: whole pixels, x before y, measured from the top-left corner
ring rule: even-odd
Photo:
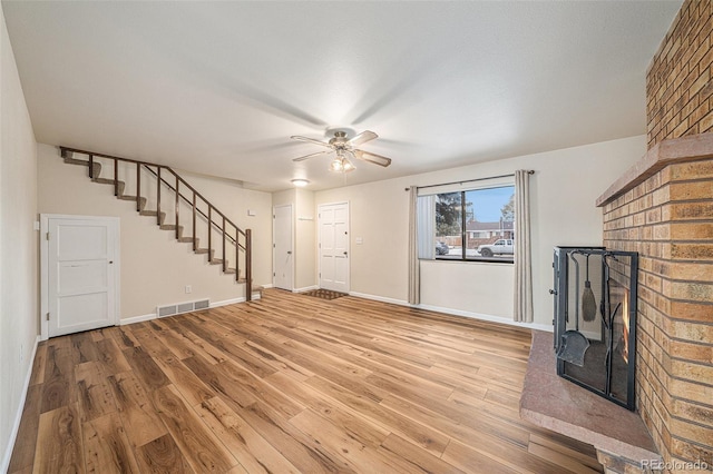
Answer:
[[[557,374],[635,409],[638,255],[555,247]]]

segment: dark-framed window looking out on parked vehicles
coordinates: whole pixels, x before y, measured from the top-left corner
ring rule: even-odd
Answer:
[[[511,185],[420,196],[419,206],[433,213],[419,213],[419,257],[511,263],[514,200]]]

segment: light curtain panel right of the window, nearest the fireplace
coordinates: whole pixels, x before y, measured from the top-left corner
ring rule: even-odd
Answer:
[[[515,171],[515,314],[514,319],[531,323],[533,250],[530,243],[530,174]]]

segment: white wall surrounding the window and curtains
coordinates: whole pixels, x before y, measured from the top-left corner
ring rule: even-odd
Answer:
[[[553,247],[602,244],[602,210],[595,200],[645,151],[645,137],[637,136],[320,191],[315,206],[350,203],[351,292],[404,303],[409,214],[404,188],[535,170],[530,178],[535,323],[551,327]],[[363,244],[355,244],[358,237]],[[512,318],[511,265],[424,261],[421,288],[424,307],[496,320]]]

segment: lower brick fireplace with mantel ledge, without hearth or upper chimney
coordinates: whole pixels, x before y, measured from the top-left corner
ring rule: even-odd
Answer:
[[[604,245],[639,254],[638,412],[664,461],[713,466],[713,134],[654,146],[598,204]]]

